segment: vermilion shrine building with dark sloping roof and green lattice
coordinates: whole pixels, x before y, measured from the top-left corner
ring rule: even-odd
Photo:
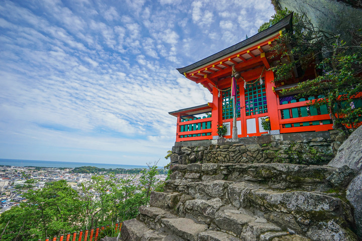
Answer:
[[[307,102],[314,97],[295,98],[284,96],[280,90],[295,86],[299,81],[316,77],[314,66],[285,82],[274,82],[272,61],[288,61],[268,58],[270,48],[286,31],[292,30],[293,14],[268,29],[189,66],[178,68],[186,78],[202,84],[213,95],[207,104],[169,112],[177,117],[176,142],[210,140],[218,136],[217,127],[228,124],[225,138],[232,138],[233,103],[231,99],[232,67],[240,73],[237,80],[237,137],[260,136],[267,133],[261,126],[261,118],[269,116],[270,134],[332,130],[327,107],[315,108]],[[196,117],[201,113],[211,117]]]

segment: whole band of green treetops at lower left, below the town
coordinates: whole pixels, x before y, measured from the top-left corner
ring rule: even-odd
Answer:
[[[149,168],[138,179],[95,175],[91,182],[81,184],[79,192],[65,180],[28,190],[24,194],[27,202],[0,216],[0,239],[44,240],[136,217],[138,207],[148,204],[150,192],[162,186],[156,178],[157,162],[147,165]]]

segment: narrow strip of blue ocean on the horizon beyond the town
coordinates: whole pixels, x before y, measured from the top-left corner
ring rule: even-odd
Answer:
[[[70,168],[92,166],[92,167],[106,168],[106,169],[147,168],[147,166],[137,166],[137,165],[120,165],[120,164],[87,163],[87,162],[55,162],[55,161],[17,160],[17,159],[0,159],[0,165],[10,165],[16,167],[33,166],[33,167],[70,167]]]

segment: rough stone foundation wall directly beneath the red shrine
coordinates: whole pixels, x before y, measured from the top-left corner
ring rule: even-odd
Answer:
[[[273,136],[177,142],[171,165],[190,163],[294,163],[324,165],[347,137],[343,132],[291,133]]]

